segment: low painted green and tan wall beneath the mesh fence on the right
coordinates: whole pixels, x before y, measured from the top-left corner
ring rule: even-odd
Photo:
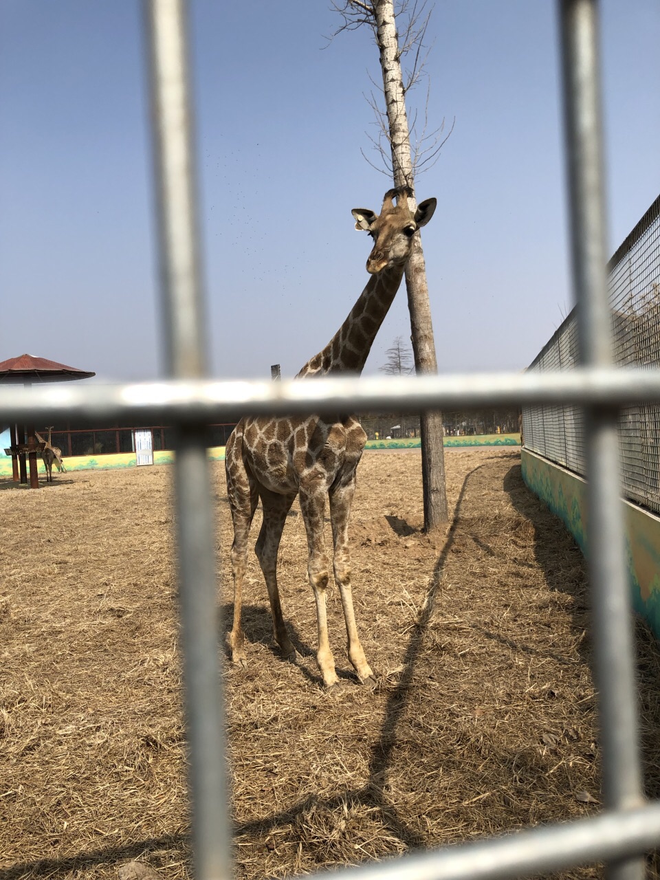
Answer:
[[[522,451],[525,485],[560,517],[586,556],[586,482],[575,473]],[[626,523],[628,577],[635,612],[660,639],[660,517],[621,501]]]

